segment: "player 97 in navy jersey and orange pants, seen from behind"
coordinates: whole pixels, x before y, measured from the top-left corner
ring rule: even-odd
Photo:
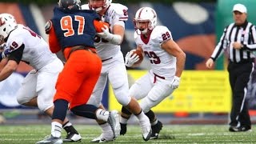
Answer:
[[[76,115],[108,122],[112,137],[118,136],[117,110],[109,112],[87,105],[102,68],[94,48],[94,36],[103,24],[108,25],[98,21],[94,10],[81,10],[80,4],[80,0],[59,0],[53,18],[46,23],[50,50],[54,53],[62,50],[66,63],[56,84],[51,135],[38,143],[62,143],[62,123],[68,106]]]

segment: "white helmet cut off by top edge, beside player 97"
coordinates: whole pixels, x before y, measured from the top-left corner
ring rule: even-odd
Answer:
[[[97,13],[108,8],[111,4],[112,0],[89,0],[90,10],[95,10]]]

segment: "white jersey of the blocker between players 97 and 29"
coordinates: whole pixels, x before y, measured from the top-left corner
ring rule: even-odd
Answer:
[[[88,4],[82,5],[82,10],[88,10]],[[120,25],[125,27],[125,22],[128,20],[128,8],[119,3],[111,3],[110,7],[106,11],[106,14],[102,16],[102,22],[110,23],[110,32],[112,33],[114,25]],[[121,50],[119,45],[114,45],[107,42],[105,39],[96,36],[94,45],[96,46],[97,53],[100,58],[107,59],[112,58],[114,55],[118,54]]]

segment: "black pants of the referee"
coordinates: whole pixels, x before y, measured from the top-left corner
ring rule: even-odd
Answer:
[[[246,100],[247,83],[253,70],[253,62],[229,62],[230,86],[232,90],[232,108],[230,126],[251,127]]]

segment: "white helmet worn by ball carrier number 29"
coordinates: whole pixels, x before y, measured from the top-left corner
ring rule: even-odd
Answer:
[[[138,22],[149,22],[146,29],[140,29]],[[157,14],[154,9],[150,7],[140,8],[134,18],[134,26],[136,30],[140,30],[142,34],[146,34],[148,31],[153,30],[157,26]]]

